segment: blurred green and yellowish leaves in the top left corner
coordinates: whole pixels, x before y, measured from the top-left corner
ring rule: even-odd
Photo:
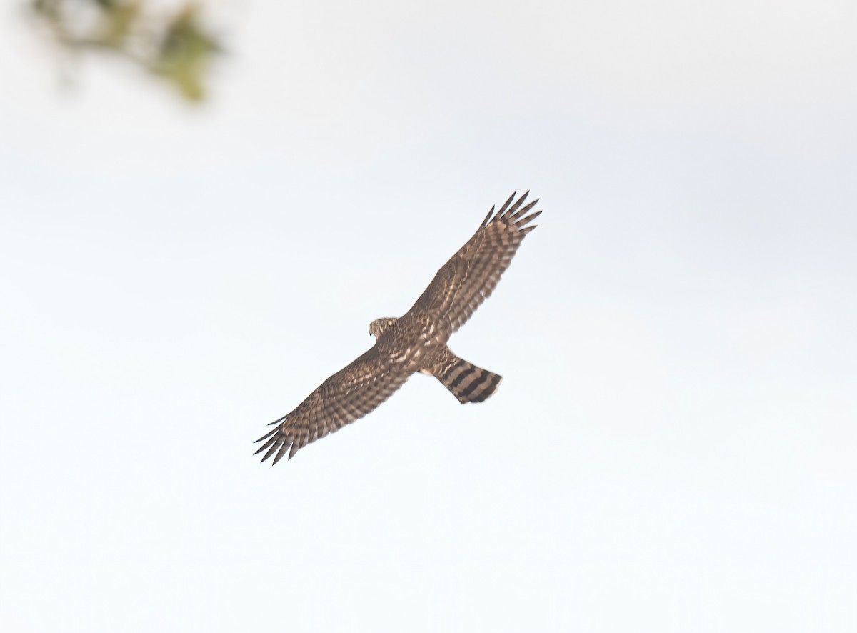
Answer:
[[[30,0],[37,20],[69,55],[103,51],[167,81],[201,101],[211,62],[222,51],[195,2],[172,11],[147,0]]]

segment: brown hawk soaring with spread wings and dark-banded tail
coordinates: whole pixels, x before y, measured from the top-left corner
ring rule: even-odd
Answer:
[[[459,359],[446,341],[494,292],[521,241],[536,228],[528,225],[542,212],[528,215],[538,202],[524,206],[528,193],[514,203],[512,194],[496,214],[492,207],[404,316],[369,323],[375,345],[271,423],[273,431],[256,440],[264,442],[256,451],[266,451],[262,461],[273,455],[276,464],[286,452],[291,459],[307,444],[363,418],[417,371],[436,377],[462,403],[494,394],[502,377]]]

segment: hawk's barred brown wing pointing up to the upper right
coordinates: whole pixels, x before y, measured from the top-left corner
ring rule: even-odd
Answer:
[[[494,292],[500,275],[509,268],[524,236],[536,228],[536,225],[527,225],[542,212],[527,213],[538,200],[522,206],[529,193],[527,191],[514,204],[515,194],[512,194],[495,215],[494,207],[488,211],[488,216],[470,241],[437,271],[411,308],[411,313],[429,313],[446,318],[452,325],[452,332],[470,318],[482,301]]]

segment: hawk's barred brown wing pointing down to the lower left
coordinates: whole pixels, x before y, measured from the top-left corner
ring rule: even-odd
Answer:
[[[408,375],[397,370],[383,362],[377,347],[372,347],[327,378],[294,411],[275,419],[271,424],[277,427],[256,440],[267,440],[256,453],[267,450],[262,461],[276,454],[273,458],[276,464],[291,446],[291,460],[298,449],[363,418],[405,384]]]

